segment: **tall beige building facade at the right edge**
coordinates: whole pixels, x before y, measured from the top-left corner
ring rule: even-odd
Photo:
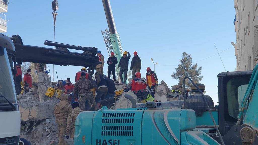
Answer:
[[[258,63],[258,0],[234,0],[237,71],[253,70]]]

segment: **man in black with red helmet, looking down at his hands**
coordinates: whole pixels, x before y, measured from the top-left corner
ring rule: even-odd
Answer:
[[[110,75],[112,73],[113,75],[113,80],[116,81],[116,64],[117,64],[117,58],[114,56],[115,53],[111,52],[111,56],[108,58],[108,78],[110,78]]]

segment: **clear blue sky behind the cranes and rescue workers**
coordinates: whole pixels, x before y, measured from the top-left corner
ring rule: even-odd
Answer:
[[[9,2],[6,35],[18,34],[26,45],[44,46],[45,40],[53,40],[52,0]],[[131,54],[138,52],[142,60],[143,76],[147,67],[154,69],[150,60],[153,58],[159,63],[156,66],[159,82],[164,80],[168,86],[177,84],[178,80],[170,76],[176,66],[161,65],[178,65],[182,53],[187,52],[192,55],[193,62],[198,61],[198,66],[203,67],[201,83],[206,85],[206,94],[217,104],[217,74],[225,70],[219,55],[205,58],[217,53],[214,43],[220,52],[231,47],[231,41],[235,42],[233,0],[110,0],[110,3],[123,48]],[[108,52],[100,32],[106,28],[108,26],[101,0],[59,0],[56,42],[95,46],[107,59]],[[226,70],[234,71],[234,48],[220,55]],[[48,66],[52,71],[52,65]],[[107,67],[105,64],[104,74],[107,74]],[[55,66],[55,69],[59,79],[65,79],[66,76],[73,81],[81,67]],[[54,78],[57,80],[56,75]]]

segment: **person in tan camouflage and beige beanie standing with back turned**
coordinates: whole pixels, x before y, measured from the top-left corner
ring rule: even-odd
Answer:
[[[72,106],[67,100],[67,94],[61,94],[61,101],[55,105],[54,116],[55,122],[58,125],[59,142],[58,145],[64,144],[64,139],[66,135],[66,125],[68,115],[72,112]]]

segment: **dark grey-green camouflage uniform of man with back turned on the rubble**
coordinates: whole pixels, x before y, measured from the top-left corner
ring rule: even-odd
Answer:
[[[81,110],[84,110],[86,100],[89,100],[93,105],[96,105],[91,88],[93,88],[93,84],[85,77],[80,77],[74,85],[74,98],[78,99]]]

